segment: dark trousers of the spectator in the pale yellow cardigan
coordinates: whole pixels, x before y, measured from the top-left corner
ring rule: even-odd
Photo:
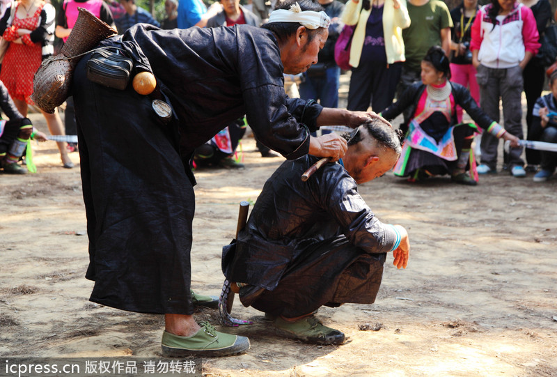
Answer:
[[[402,63],[360,64],[352,68],[347,109],[367,111],[371,105],[379,114],[393,103],[400,72]]]

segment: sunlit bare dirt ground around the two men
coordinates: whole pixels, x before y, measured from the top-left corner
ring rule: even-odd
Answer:
[[[79,164],[61,168],[52,141],[33,148],[38,174],[0,176],[0,357],[160,356],[162,316],[88,301]],[[196,174],[192,287],[201,293],[219,294],[238,203],[255,201],[283,160],[261,158],[251,138],[242,148],[246,169]],[[500,172],[464,187],[389,173],[360,192],[379,219],[407,227],[411,257],[406,270],[388,257],[375,304],[320,309],[346,343],[278,338],[237,300],[233,314],[255,324],[224,330],[251,348],[203,360],[207,376],[557,376],[557,179]],[[223,330],[217,317],[198,314]]]

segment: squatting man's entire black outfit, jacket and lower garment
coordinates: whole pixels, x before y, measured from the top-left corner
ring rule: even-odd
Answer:
[[[375,217],[356,181],[329,163],[309,180],[317,157],[285,161],[267,180],[222,268],[246,306],[296,317],[334,302],[372,303],[395,232]]]

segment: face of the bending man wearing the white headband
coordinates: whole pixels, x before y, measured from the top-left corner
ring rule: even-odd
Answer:
[[[298,47],[298,51],[284,63],[284,72],[289,75],[306,72],[308,68],[317,63],[317,54],[325,46],[328,37],[329,29],[327,28],[315,32],[311,40],[309,40],[308,32],[302,33],[299,36],[301,45]]]

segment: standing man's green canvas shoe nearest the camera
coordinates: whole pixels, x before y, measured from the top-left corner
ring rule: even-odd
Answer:
[[[216,357],[228,356],[249,350],[249,339],[218,332],[207,321],[200,323],[201,329],[191,337],[163,332],[162,354],[165,357]]]

